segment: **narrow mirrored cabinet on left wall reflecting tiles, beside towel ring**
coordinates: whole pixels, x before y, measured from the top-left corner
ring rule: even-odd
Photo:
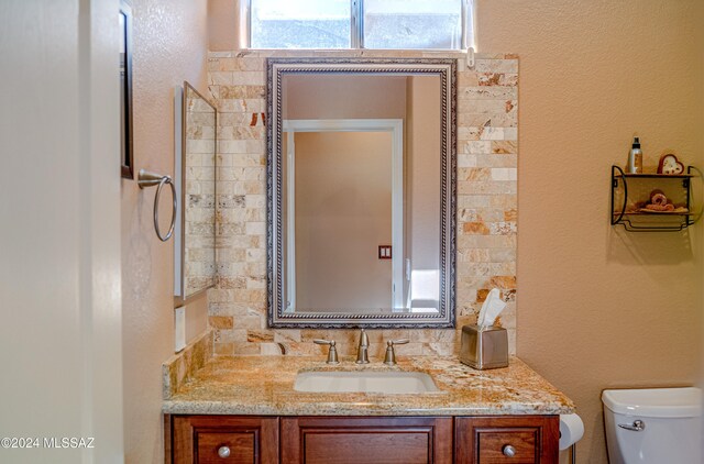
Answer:
[[[174,283],[177,303],[215,285],[216,278],[216,124],[217,111],[188,82],[182,103],[179,229]]]

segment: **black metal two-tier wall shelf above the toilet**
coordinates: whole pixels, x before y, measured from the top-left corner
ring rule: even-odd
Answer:
[[[689,228],[702,217],[700,195],[695,196],[693,184],[703,175],[694,166],[686,174],[629,174],[619,166],[612,166],[612,225],[622,224],[628,232],[676,232]],[[647,211],[638,208],[650,198],[650,192],[660,189],[674,205],[684,211]]]

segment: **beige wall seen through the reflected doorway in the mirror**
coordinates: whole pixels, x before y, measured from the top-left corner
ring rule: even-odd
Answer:
[[[392,307],[391,184],[391,132],[296,134],[297,308]]]

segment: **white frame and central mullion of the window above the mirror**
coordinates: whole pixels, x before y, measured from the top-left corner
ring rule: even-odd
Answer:
[[[256,49],[384,49],[384,51],[398,51],[398,49],[418,49],[425,52],[443,51],[443,52],[461,52],[468,48],[476,49],[475,38],[475,0],[458,0],[461,3],[462,15],[462,36],[460,37],[461,48],[366,48],[364,46],[364,0],[350,0],[350,47],[349,48],[256,48]],[[240,48],[252,48],[252,0],[240,0]]]

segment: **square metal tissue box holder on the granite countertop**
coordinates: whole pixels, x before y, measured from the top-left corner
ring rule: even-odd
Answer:
[[[508,332],[498,327],[462,327],[460,362],[475,369],[508,366]]]

